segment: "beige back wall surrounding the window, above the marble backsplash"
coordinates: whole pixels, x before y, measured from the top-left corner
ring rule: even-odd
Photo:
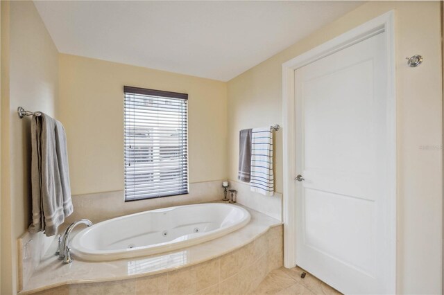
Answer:
[[[226,83],[60,54],[73,195],[123,190],[123,86],[188,93],[189,181],[227,174]]]

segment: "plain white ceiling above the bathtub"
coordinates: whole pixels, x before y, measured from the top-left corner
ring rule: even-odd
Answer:
[[[58,51],[227,81],[357,1],[35,1]]]

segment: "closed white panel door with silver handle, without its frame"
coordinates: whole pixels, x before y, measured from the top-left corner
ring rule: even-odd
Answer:
[[[295,71],[296,263],[345,294],[394,290],[384,35]]]

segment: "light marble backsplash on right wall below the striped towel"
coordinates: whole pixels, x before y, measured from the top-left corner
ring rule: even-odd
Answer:
[[[255,211],[282,221],[282,194],[264,196],[250,190],[250,184],[230,180],[229,189],[237,190],[237,202]]]

